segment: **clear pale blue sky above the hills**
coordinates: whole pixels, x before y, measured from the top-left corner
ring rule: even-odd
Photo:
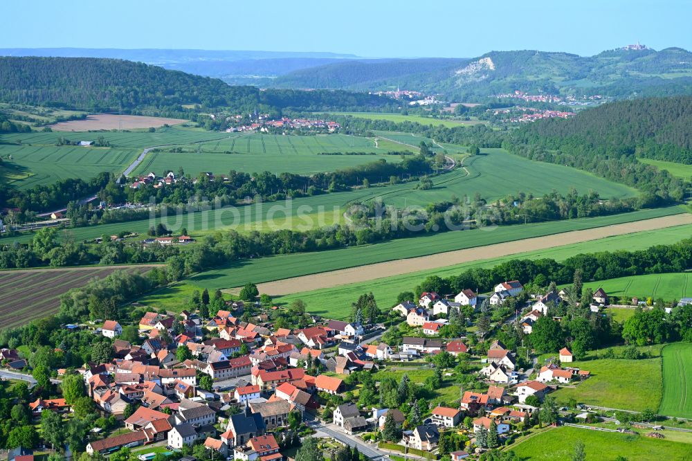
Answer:
[[[682,0],[35,0],[3,2],[0,48],[332,51],[473,57],[593,55],[637,40],[692,49]]]

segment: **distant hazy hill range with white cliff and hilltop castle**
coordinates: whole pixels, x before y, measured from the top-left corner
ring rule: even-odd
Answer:
[[[281,75],[277,87],[401,89],[443,93],[450,100],[485,102],[515,90],[614,98],[692,93],[692,53],[617,49],[595,56],[491,51],[473,59],[349,60]]]

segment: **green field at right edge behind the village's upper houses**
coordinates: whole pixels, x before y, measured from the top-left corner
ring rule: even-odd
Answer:
[[[609,296],[626,296],[666,301],[679,300],[692,296],[692,273],[661,273],[633,275],[630,277],[611,278],[597,282],[586,282],[585,288],[596,291],[603,288]]]

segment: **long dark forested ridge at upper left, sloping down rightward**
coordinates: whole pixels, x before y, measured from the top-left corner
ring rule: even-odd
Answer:
[[[394,105],[345,91],[260,91],[139,62],[91,57],[0,57],[0,101],[86,111],[154,108],[350,109]]]

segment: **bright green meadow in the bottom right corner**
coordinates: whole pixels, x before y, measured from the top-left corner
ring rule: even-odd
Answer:
[[[577,440],[584,443],[587,460],[614,461],[618,456],[628,461],[692,460],[689,444],[569,426],[549,428],[509,449],[522,460],[564,461],[572,459]]]

